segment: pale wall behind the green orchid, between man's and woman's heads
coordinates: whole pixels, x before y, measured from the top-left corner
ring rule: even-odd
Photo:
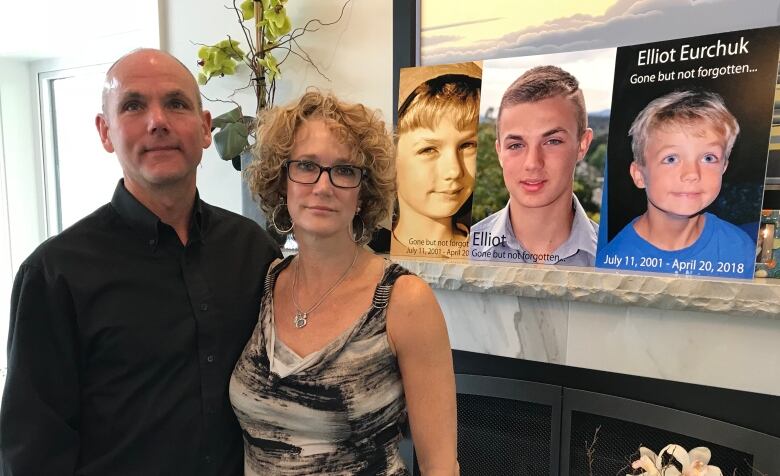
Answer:
[[[235,14],[225,9],[229,2],[215,0],[161,1],[162,47],[197,72],[198,45],[214,44],[230,34],[244,41]],[[293,27],[309,19],[330,22],[338,18],[341,0],[291,0],[287,3]],[[390,0],[352,0],[339,23],[306,33],[299,39],[330,81],[301,59],[290,56],[282,68],[276,103],[283,104],[303,94],[308,86],[332,90],[342,99],[380,109],[392,118],[393,11]],[[234,77],[215,78],[203,88],[209,98],[225,99],[233,89],[246,84],[247,69]],[[249,115],[254,113],[250,92],[237,96]],[[230,110],[232,104],[205,102],[214,116]],[[201,196],[208,202],[240,213],[240,174],[223,162],[214,146],[203,156],[198,174]]]

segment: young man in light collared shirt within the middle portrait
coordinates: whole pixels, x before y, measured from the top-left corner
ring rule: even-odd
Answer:
[[[517,78],[496,120],[509,203],[472,227],[472,259],[593,266],[598,225],[572,192],[592,139],[574,76],[538,66]]]

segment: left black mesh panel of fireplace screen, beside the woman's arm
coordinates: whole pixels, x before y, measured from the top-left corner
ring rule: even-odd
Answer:
[[[458,394],[460,474],[550,474],[551,418],[546,405]]]

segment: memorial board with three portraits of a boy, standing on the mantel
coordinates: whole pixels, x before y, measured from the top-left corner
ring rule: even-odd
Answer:
[[[403,68],[391,254],[751,278],[779,46],[768,27]]]

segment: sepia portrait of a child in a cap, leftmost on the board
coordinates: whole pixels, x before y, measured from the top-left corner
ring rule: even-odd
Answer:
[[[393,254],[467,256],[481,75],[474,63],[401,71]]]

